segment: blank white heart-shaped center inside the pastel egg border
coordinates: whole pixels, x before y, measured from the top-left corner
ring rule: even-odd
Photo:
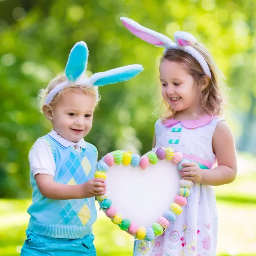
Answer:
[[[117,165],[107,173],[108,198],[123,218],[144,227],[151,227],[174,203],[180,188],[177,164],[159,160],[143,170],[131,165]]]

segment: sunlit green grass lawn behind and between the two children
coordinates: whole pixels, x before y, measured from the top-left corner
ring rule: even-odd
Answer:
[[[215,187],[218,215],[218,256],[256,256],[256,159],[239,156],[233,183]],[[0,200],[0,255],[18,256],[26,239],[30,200]],[[98,256],[131,256],[133,237],[102,213],[94,225]],[[189,255],[190,256],[190,255]]]

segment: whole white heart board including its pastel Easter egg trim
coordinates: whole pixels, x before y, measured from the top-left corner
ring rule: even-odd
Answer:
[[[156,148],[140,157],[114,151],[97,163],[107,193],[97,197],[113,223],[138,239],[151,241],[182,212],[192,181],[180,180],[183,159],[173,148]],[[179,163],[179,165],[178,165]]]

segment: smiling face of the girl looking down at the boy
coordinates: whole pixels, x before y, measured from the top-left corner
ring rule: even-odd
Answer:
[[[184,67],[175,62],[164,60],[160,65],[162,95],[175,111],[190,113],[199,109],[193,77]]]

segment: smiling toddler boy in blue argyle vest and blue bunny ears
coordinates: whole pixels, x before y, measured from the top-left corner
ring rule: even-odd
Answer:
[[[87,58],[86,44],[75,44],[65,75],[41,91],[42,109],[53,129],[29,153],[33,193],[21,256],[96,255],[94,196],[104,195],[106,185],[104,179],[93,178],[98,153],[83,137],[92,127],[97,86],[127,81],[143,68],[130,65],[81,79]]]

